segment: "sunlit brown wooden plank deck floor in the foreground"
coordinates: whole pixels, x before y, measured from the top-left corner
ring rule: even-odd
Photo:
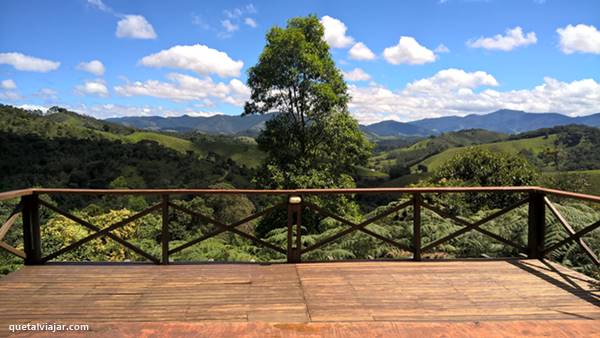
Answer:
[[[28,322],[84,323],[96,333],[145,327],[132,322],[223,333],[218,324],[286,336],[282,328],[339,334],[333,323],[363,333],[444,325],[464,333],[463,326],[508,329],[510,321],[530,333],[556,327],[561,336],[585,336],[600,328],[593,283],[538,260],[27,266],[0,279],[0,335]]]

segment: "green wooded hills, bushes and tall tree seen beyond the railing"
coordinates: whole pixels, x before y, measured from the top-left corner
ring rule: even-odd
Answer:
[[[389,186],[533,186],[542,185],[598,194],[600,129],[569,125],[508,135],[482,129],[431,137],[376,139],[364,134],[348,111],[347,85],[322,40],[314,16],[293,18],[273,28],[258,63],[248,73],[251,97],[244,115],[279,112],[265,122],[256,138],[209,135],[193,131],[151,132],[101,121],[64,108],[46,113],[0,106],[0,191],[29,187],[69,188],[353,188]],[[295,57],[291,57],[295,56]],[[288,70],[288,71],[284,71]],[[287,88],[289,90],[274,90]],[[598,171],[598,172],[597,172]],[[425,194],[452,215],[476,221],[518,200],[518,194]],[[81,219],[100,227],[123,220],[158,202],[142,196],[48,196]],[[353,222],[401,204],[409,196],[312,196],[308,200]],[[280,202],[274,196],[179,196],[174,203],[206,217],[232,223]],[[575,230],[600,219],[600,206],[567,199],[553,202]],[[18,201],[2,202],[9,217]],[[243,226],[258,238],[285,247],[286,210]],[[303,245],[310,246],[346,225],[309,210],[302,213]],[[53,252],[91,232],[42,209],[42,246]],[[174,210],[169,215],[172,247],[214,230],[198,217]],[[485,228],[521,245],[527,241],[526,206],[490,222]],[[412,233],[410,209],[393,213],[368,230],[407,246]],[[20,221],[19,221],[20,222]],[[422,216],[426,241],[442,238],[460,226],[434,213]],[[547,212],[546,243],[567,236]],[[22,248],[22,225],[5,241]],[[115,231],[143,250],[159,256],[161,219],[144,216]],[[600,231],[584,237],[600,251]],[[518,252],[476,232],[468,232],[424,254],[431,258],[515,257]],[[311,251],[305,260],[401,259],[410,252],[354,232]],[[598,267],[577,243],[552,252],[551,259],[600,277]],[[277,262],[285,257],[231,233],[198,243],[174,261]],[[140,261],[106,237],[97,238],[57,261]],[[0,251],[0,272],[17,269],[21,260]]]

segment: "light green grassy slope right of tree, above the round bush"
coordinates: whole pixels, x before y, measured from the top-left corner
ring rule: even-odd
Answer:
[[[502,151],[506,153],[516,154],[522,150],[529,150],[533,154],[537,155],[546,147],[551,147],[556,140],[556,135],[550,135],[545,138],[543,136],[530,138],[530,139],[521,139],[521,140],[512,140],[512,141],[504,141],[497,143],[486,143],[475,145],[472,147],[482,148],[491,151]],[[444,162],[448,161],[452,157],[454,157],[459,152],[465,150],[467,147],[456,147],[444,150],[443,152],[433,155],[424,161],[421,164],[427,166],[429,171],[435,170],[439,168]]]

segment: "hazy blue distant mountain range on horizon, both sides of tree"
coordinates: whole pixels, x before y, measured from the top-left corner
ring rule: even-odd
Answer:
[[[273,114],[215,115],[210,117],[188,115],[178,117],[139,116],[111,118],[107,121],[156,131],[198,131],[208,134],[256,135],[264,128],[265,122],[272,117]],[[438,117],[412,122],[381,121],[366,126],[361,125],[361,129],[372,137],[398,137],[429,136],[463,129],[485,129],[499,133],[516,134],[567,124],[600,127],[600,113],[570,117],[557,113],[527,113],[502,109],[489,114]]]

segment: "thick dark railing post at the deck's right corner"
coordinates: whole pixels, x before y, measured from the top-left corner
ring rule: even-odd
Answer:
[[[529,217],[527,234],[527,257],[544,257],[546,236],[546,205],[544,193],[535,191],[529,194]]]

